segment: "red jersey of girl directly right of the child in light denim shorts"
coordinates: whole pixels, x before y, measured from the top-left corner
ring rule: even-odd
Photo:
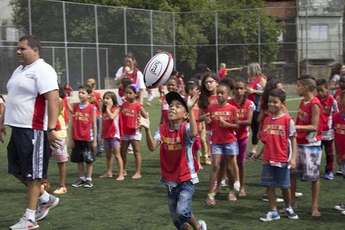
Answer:
[[[252,101],[250,101],[249,99],[246,99],[246,102],[244,102],[244,104],[237,104],[235,102],[235,99],[228,100],[228,103],[230,105],[233,105],[236,107],[237,119],[239,121],[245,121],[246,119],[248,119],[248,111],[249,111],[249,106],[251,102]],[[236,129],[237,140],[248,137],[248,133],[249,133],[249,126],[239,126]]]

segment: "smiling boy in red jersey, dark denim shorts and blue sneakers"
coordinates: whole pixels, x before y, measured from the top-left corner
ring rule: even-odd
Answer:
[[[289,219],[296,220],[298,215],[293,211],[290,200],[290,168],[296,166],[296,131],[293,119],[284,113],[286,95],[282,89],[274,89],[268,97],[268,109],[272,115],[262,123],[261,140],[264,148],[253,155],[257,159],[262,153],[262,179],[260,184],[267,187],[270,211],[260,218],[261,221],[279,220],[275,198],[275,188],[282,189],[285,201],[285,212]]]

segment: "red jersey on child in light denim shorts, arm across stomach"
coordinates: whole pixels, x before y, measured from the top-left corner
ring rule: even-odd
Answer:
[[[220,121],[224,120],[225,122],[233,124],[234,116],[236,116],[236,107],[228,103],[223,107],[218,106],[218,104],[213,104],[208,107],[208,111],[210,111],[212,125],[212,143],[228,144],[235,142],[235,130],[221,127]]]

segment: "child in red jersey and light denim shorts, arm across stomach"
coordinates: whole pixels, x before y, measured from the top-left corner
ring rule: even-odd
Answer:
[[[226,171],[235,178],[235,183],[229,183],[230,193],[228,200],[237,200],[233,189],[239,191],[239,171],[236,161],[238,155],[235,130],[238,128],[236,107],[228,104],[230,87],[221,83],[217,86],[217,104],[208,106],[210,124],[212,127],[212,170],[210,172],[210,190],[207,194],[206,204],[215,205],[215,182],[219,175],[222,155],[225,155]]]

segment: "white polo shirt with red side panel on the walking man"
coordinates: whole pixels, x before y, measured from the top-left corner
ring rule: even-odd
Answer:
[[[43,59],[19,66],[7,83],[4,124],[46,130],[48,112],[43,94],[58,89],[57,73]]]

